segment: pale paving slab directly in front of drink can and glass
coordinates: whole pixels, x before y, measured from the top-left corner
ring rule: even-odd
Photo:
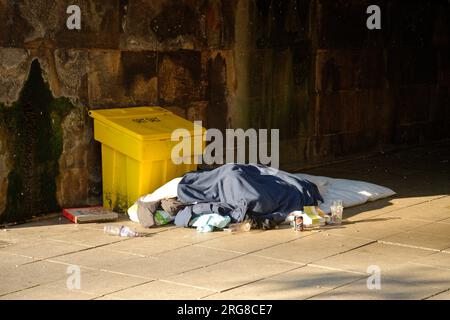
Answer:
[[[309,237],[260,250],[252,255],[307,264],[369,244],[370,242],[371,240],[336,236],[327,232],[320,232],[312,234]]]

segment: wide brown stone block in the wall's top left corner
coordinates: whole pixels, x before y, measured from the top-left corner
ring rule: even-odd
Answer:
[[[24,0],[0,2],[0,43],[36,47],[47,39],[65,48],[118,48],[119,1],[79,0],[81,30],[66,26],[73,1]]]

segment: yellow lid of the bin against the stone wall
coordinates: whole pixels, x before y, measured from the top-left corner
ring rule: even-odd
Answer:
[[[139,140],[170,139],[176,129],[194,129],[203,134],[203,128],[161,107],[137,107],[89,111],[89,115]]]

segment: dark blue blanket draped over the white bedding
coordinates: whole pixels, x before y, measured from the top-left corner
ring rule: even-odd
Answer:
[[[323,202],[314,183],[254,164],[226,164],[210,171],[187,173],[178,185],[178,198],[184,203],[198,202],[178,213],[175,224],[184,227],[190,219],[210,213],[242,222],[251,212],[281,223],[290,212]]]

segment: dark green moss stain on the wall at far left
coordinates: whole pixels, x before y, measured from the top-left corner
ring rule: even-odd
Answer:
[[[11,106],[0,105],[0,122],[11,136],[13,166],[8,176],[5,212],[0,222],[21,222],[58,211],[56,178],[63,150],[61,122],[74,106],[54,98],[37,60]]]

